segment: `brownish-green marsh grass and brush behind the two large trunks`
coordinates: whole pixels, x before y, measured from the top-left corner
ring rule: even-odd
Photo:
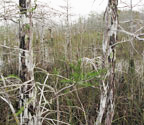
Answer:
[[[33,11],[33,10],[32,10]],[[143,13],[133,12],[134,19],[140,20]],[[37,91],[46,81],[45,99],[48,118],[57,118],[57,98],[59,100],[60,120],[70,125],[93,125],[97,117],[100,100],[100,85],[106,69],[102,69],[103,14],[92,13],[87,19],[80,18],[71,26],[72,58],[71,62],[65,56],[65,29],[58,25],[53,30],[53,40],[49,27],[45,28],[43,43],[34,27],[33,48],[35,62],[35,81]],[[119,11],[119,20],[128,18],[129,11]],[[135,21],[135,29],[141,27]],[[7,85],[15,84],[18,77],[18,38],[13,32],[17,25],[9,24],[9,28],[0,27],[0,59],[1,73]],[[129,24],[122,24],[130,30]],[[26,25],[29,29],[29,25]],[[5,29],[5,30],[3,30]],[[40,32],[40,31],[39,31]],[[118,33],[118,42],[129,39],[129,36]],[[134,39],[134,62],[130,60],[130,42],[116,45],[116,105],[113,125],[143,125],[144,124],[144,43]],[[90,63],[82,59],[94,59],[94,69]],[[99,57],[97,59],[97,57]],[[129,64],[132,66],[130,67]],[[48,79],[46,79],[48,75]],[[0,79],[0,87],[2,80]],[[2,90],[2,89],[0,89]],[[40,96],[40,92],[38,93]],[[19,116],[23,109],[18,108],[18,90],[10,92],[12,101]],[[84,109],[84,110],[83,110]],[[0,125],[15,124],[9,106],[0,99]],[[47,112],[46,112],[47,113]],[[42,117],[46,116],[43,114]],[[50,122],[51,123],[51,122]],[[44,124],[48,124],[44,121]],[[51,123],[52,124],[52,123]]]

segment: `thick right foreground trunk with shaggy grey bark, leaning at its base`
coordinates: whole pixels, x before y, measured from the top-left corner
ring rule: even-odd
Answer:
[[[115,89],[115,60],[116,50],[114,44],[117,38],[117,15],[118,0],[108,0],[108,6],[105,11],[106,29],[103,40],[103,67],[107,69],[107,75],[101,85],[100,109],[95,125],[102,124],[104,113],[106,114],[105,125],[111,125],[114,108],[114,89]]]

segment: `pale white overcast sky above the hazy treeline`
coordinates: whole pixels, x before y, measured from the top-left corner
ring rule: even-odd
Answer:
[[[39,0],[46,3],[50,3],[55,9],[59,6],[64,6],[64,0]],[[94,2],[95,1],[95,2]],[[131,0],[119,0],[119,7],[130,6]],[[72,7],[71,12],[75,15],[87,15],[90,11],[96,11],[98,13],[105,10],[108,0],[69,0],[70,6]],[[144,0],[132,0],[134,9],[139,10],[144,7]]]

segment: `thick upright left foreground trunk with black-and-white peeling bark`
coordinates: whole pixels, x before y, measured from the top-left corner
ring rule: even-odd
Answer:
[[[36,87],[33,63],[33,31],[31,0],[19,0],[20,7],[20,53],[19,73],[25,84],[20,89],[20,125],[41,125],[36,107]]]

